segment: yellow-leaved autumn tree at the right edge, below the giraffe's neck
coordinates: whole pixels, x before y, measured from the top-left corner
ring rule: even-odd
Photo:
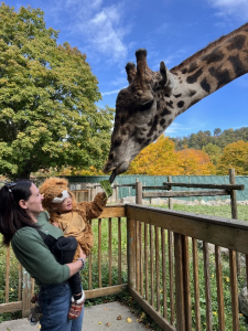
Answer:
[[[218,174],[228,174],[229,169],[235,169],[236,174],[248,174],[248,142],[239,140],[224,148],[223,157],[217,166]]]

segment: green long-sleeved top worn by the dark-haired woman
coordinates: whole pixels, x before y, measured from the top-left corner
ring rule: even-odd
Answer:
[[[45,234],[55,238],[63,236],[61,228],[48,223],[48,216],[44,212],[39,215],[37,224]],[[56,261],[35,228],[20,228],[13,235],[11,245],[18,260],[37,285],[61,284],[69,278],[68,266]]]

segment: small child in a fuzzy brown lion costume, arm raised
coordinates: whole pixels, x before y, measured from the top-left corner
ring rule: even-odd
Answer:
[[[91,202],[77,203],[73,193],[67,188],[67,180],[60,178],[45,180],[40,188],[40,193],[44,196],[42,205],[50,214],[50,222],[61,227],[65,237],[73,236],[77,241],[77,248],[73,260],[78,259],[79,249],[87,257],[93,247],[93,232],[87,221],[97,218],[101,214],[107,203],[106,193],[98,193]],[[55,253],[54,255],[57,258],[57,254]],[[63,253],[62,255],[64,256]],[[65,264],[68,260],[61,259],[60,263]],[[85,300],[79,273],[71,277],[68,281],[73,291],[73,303],[71,305],[68,318],[76,319],[80,314]]]

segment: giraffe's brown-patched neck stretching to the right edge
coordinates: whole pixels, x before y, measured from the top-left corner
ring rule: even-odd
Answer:
[[[204,50],[171,70],[176,92],[182,94],[182,109],[248,73],[248,24],[211,43]]]

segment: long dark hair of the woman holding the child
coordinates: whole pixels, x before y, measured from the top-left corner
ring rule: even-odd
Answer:
[[[20,200],[28,201],[31,196],[32,182],[19,180],[7,183],[0,190],[0,233],[3,235],[2,245],[10,245],[12,236],[19,228],[31,226],[39,228],[24,209],[19,205]]]

